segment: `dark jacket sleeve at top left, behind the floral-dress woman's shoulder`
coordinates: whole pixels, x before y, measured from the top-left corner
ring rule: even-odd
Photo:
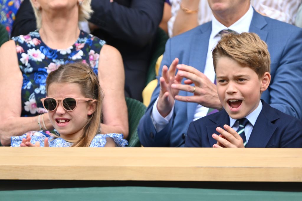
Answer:
[[[16,20],[14,21],[11,31],[11,37],[26,35],[31,31],[37,29],[36,17],[34,9],[31,6],[29,0],[24,0],[16,14]]]

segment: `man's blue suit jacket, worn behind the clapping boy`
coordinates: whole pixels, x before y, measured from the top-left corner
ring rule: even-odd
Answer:
[[[180,64],[190,65],[204,72],[211,31],[212,24],[209,22],[170,38],[166,43],[157,79],[161,76],[162,66],[170,66],[175,57],[178,57]],[[272,107],[302,119],[302,29],[254,11],[249,32],[258,34],[268,44],[271,55],[271,84],[261,98]],[[169,124],[156,132],[150,113],[159,91],[158,82],[146,114],[140,120],[140,142],[145,147],[182,147],[197,103],[175,101]],[[179,95],[193,94],[180,91]]]

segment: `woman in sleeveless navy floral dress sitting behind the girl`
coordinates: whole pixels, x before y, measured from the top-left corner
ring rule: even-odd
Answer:
[[[10,145],[11,136],[41,128],[53,129],[48,115],[43,115],[43,124],[39,118],[47,112],[40,99],[46,96],[48,73],[70,62],[84,62],[98,75],[104,92],[101,133],[123,133],[127,138],[124,67],[120,53],[78,27],[78,22],[88,19],[92,12],[90,2],[31,0],[38,30],[15,37],[1,46],[2,145]]]

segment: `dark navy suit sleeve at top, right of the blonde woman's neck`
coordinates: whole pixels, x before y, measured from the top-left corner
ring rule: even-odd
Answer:
[[[92,0],[94,13],[89,21],[113,38],[143,47],[156,33],[163,5],[163,0],[132,0],[128,8],[109,0]]]

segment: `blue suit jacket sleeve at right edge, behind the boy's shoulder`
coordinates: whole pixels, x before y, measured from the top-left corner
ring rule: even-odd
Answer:
[[[271,63],[271,70],[276,69],[276,71],[268,90],[271,107],[301,120],[302,29],[298,31],[297,27],[292,29],[291,34],[284,38],[287,41],[280,60]]]

